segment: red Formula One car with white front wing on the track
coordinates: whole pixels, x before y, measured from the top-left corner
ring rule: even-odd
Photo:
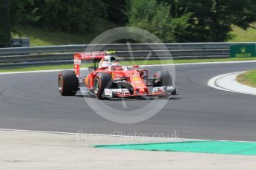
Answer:
[[[165,71],[148,78],[148,69],[122,67],[114,52],[82,52],[74,55],[74,71],[59,72],[58,87],[61,95],[95,95],[96,98],[126,98],[137,96],[176,95],[171,75]],[[82,61],[91,61],[88,75],[82,75]],[[88,66],[88,65],[86,65]],[[151,89],[151,90],[150,90]],[[151,91],[151,92],[150,92]]]

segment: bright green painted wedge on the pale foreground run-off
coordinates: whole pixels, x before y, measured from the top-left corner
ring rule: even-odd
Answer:
[[[219,140],[186,141],[171,143],[142,143],[95,146],[105,149],[130,149],[166,152],[199,152],[211,154],[256,155],[255,142],[233,142]]]

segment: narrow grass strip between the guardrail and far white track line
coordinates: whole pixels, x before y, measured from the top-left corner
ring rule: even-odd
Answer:
[[[183,63],[203,63],[203,62],[224,62],[224,61],[255,61],[256,58],[214,58],[214,59],[175,59],[175,60],[149,60],[149,61],[120,61],[123,66],[130,65],[151,65],[151,64],[183,64]],[[52,66],[39,66],[39,67],[15,67],[9,69],[0,69],[0,72],[24,72],[36,71],[47,69],[72,69],[73,64],[61,64]]]

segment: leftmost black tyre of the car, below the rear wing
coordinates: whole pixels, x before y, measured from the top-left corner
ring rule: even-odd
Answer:
[[[76,73],[72,70],[65,70],[59,72],[58,77],[58,88],[59,92],[63,96],[73,96],[76,95],[78,89],[78,80],[76,78]]]

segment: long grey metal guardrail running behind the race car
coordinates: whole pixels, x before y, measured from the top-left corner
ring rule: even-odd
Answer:
[[[75,52],[115,50],[120,60],[142,60],[150,52],[149,59],[169,58],[228,58],[229,47],[255,43],[168,43],[168,44],[82,44],[45,47],[0,48],[0,67],[33,64],[72,63]]]

